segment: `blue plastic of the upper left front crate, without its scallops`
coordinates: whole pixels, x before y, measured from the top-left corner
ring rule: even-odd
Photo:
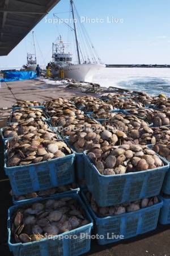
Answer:
[[[59,187],[75,181],[75,154],[27,166],[7,167],[4,170],[16,196]]]

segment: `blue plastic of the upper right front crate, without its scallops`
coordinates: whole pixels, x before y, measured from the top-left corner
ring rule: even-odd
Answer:
[[[163,158],[162,161],[163,167],[152,170],[104,176],[99,173],[84,152],[86,185],[100,207],[158,196],[169,169],[169,163]]]

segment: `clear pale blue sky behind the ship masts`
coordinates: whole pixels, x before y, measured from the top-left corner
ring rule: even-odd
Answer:
[[[74,0],[74,3],[105,64],[170,64],[169,0]],[[61,0],[33,28],[40,65],[52,60],[52,43],[59,34],[63,41],[72,42],[75,60],[73,40],[69,37],[73,32],[68,32],[63,23],[51,23],[53,13],[59,18],[69,18],[69,7],[69,0]],[[32,44],[29,33],[8,56],[0,57],[0,67],[25,64],[27,52],[33,51]]]

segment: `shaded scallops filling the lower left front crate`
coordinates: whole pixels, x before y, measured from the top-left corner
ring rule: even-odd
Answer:
[[[11,217],[11,242],[40,241],[88,223],[84,210],[72,197],[22,205]]]

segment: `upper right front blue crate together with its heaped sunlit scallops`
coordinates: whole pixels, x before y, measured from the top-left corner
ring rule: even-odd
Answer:
[[[157,196],[169,163],[146,146],[124,144],[84,152],[88,190],[100,207]]]

